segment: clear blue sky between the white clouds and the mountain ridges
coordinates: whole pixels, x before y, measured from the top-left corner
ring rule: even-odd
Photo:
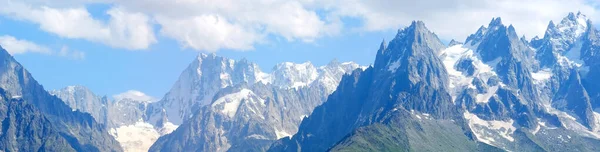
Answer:
[[[103,14],[104,11],[94,12]],[[133,89],[160,98],[199,53],[210,53],[182,48],[176,41],[161,36],[157,37],[160,43],[147,50],[130,51],[86,40],[60,38],[40,30],[35,24],[7,17],[0,16],[0,26],[3,27],[0,35],[13,35],[56,51],[67,46],[85,52],[84,59],[38,53],[15,55],[47,90],[84,85],[98,95],[109,97]],[[256,45],[254,50],[223,49],[216,54],[236,60],[246,58],[259,64],[263,71],[270,71],[281,62],[310,61],[314,65],[325,65],[333,59],[369,65],[375,59],[381,41],[394,35],[395,30],[390,29],[340,34],[314,42],[273,37],[270,42]]]

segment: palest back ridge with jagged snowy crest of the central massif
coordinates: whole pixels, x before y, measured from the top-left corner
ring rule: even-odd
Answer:
[[[246,83],[269,84],[282,89],[308,88],[318,83],[323,91],[332,92],[341,75],[359,66],[352,62],[331,62],[315,67],[310,62],[277,64],[271,73],[264,73],[258,65],[246,59],[235,61],[215,54],[200,54],[180,75],[163,99],[150,105],[147,120],[180,125],[192,117],[194,111],[212,103],[221,89]]]

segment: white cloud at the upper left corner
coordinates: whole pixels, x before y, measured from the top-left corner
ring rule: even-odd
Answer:
[[[108,21],[94,19],[83,6],[52,8],[21,1],[0,1],[0,14],[39,24],[44,31],[60,37],[86,39],[131,50],[146,49],[155,43],[149,17],[113,7]]]

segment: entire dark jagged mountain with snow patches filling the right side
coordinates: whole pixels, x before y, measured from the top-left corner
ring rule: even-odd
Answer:
[[[269,151],[596,151],[580,147],[600,144],[598,34],[582,17],[531,41],[495,18],[447,48],[413,22]]]

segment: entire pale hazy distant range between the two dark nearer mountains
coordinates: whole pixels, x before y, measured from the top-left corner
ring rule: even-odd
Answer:
[[[253,147],[264,151],[273,141],[296,132],[304,116],[335,90],[342,75],[357,68],[365,67],[337,60],[321,67],[285,62],[264,73],[246,59],[200,54],[156,102],[110,101],[84,86],[50,92],[106,124],[126,151],[147,151],[158,137],[175,128],[181,129],[157,143],[185,136],[197,142],[164,143],[169,146],[164,148],[226,151]],[[191,123],[184,123],[190,119]],[[195,123],[202,124],[190,126]]]

